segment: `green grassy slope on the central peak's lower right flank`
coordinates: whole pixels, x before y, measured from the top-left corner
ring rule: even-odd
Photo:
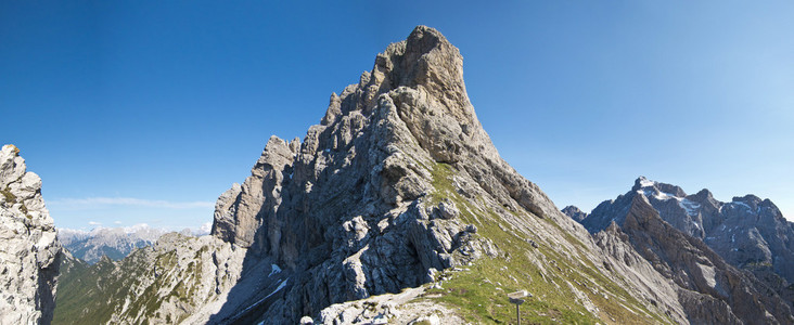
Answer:
[[[496,210],[482,211],[458,194],[452,169],[439,164],[433,170],[436,192],[431,203],[451,199],[463,222],[477,226],[478,235],[499,247],[501,256],[483,258],[461,272],[445,272],[443,288],[430,289],[422,299],[458,310],[468,321],[483,324],[515,322],[515,306],[507,294],[526,289],[534,295],[521,307],[523,324],[667,324],[669,318],[645,306],[610,280],[578,251],[584,243],[549,219],[540,222],[560,232],[571,245],[549,247],[546,240],[516,231]],[[512,212],[516,218],[537,218]],[[578,294],[577,294],[578,292]],[[582,299],[584,298],[584,299]],[[588,311],[589,302],[596,307]]]

